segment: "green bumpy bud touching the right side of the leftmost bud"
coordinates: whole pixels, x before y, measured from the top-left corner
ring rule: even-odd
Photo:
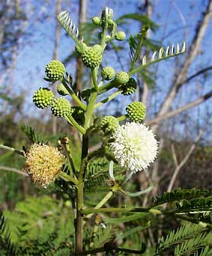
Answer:
[[[67,99],[57,98],[51,104],[52,114],[57,117],[65,117],[71,111],[71,104]]]

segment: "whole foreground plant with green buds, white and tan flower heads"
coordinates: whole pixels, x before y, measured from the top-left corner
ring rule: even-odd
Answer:
[[[102,57],[105,57],[105,50],[108,43],[112,40],[125,40],[124,31],[117,30],[117,23],[113,20],[112,9],[105,8],[102,11],[101,17],[93,17],[93,23],[102,28],[99,35],[100,43],[97,45],[86,45],[83,38],[78,38],[78,29],[76,29],[69,13],[63,11],[57,16],[59,23],[66,30],[73,41],[76,43],[76,52],[81,56],[83,64],[90,69],[91,83],[86,89],[76,91],[73,86],[71,75],[66,72],[66,68],[59,60],[52,60],[46,66],[45,73],[47,82],[57,82],[57,92],[59,96],[54,97],[52,91],[46,87],[35,91],[33,102],[37,108],[51,108],[52,114],[57,118],[64,118],[68,126],[73,126],[81,138],[81,164],[76,167],[73,162],[73,157],[70,151],[69,137],[61,138],[58,142],[58,147],[55,148],[50,143],[33,139],[34,143],[25,152],[18,151],[20,155],[25,157],[23,170],[28,172],[32,181],[40,187],[47,187],[55,180],[62,181],[71,191],[71,202],[74,213],[74,252],[72,255],[95,255],[98,252],[105,252],[105,255],[117,255],[119,253],[129,253],[141,255],[146,251],[145,243],[141,243],[141,250],[134,248],[127,249],[119,247],[118,238],[113,238],[102,247],[93,248],[93,243],[90,243],[89,250],[86,249],[83,242],[83,229],[92,219],[95,218],[95,232],[104,221],[102,217],[98,217],[98,213],[122,213],[126,218],[123,221],[133,221],[141,218],[141,213],[146,213],[146,218],[152,215],[170,216],[171,218],[179,218],[197,225],[201,225],[201,231],[206,231],[206,227],[211,224],[211,219],[208,214],[211,213],[212,199],[211,194],[206,190],[201,189],[177,189],[170,193],[165,193],[161,197],[153,199],[153,203],[147,208],[124,206],[108,208],[105,207],[106,202],[116,193],[122,193],[124,196],[141,196],[151,191],[152,187],[144,191],[129,192],[124,190],[126,183],[130,182],[130,178],[136,172],[141,172],[147,169],[154,162],[158,153],[158,141],[151,128],[148,128],[143,120],[146,116],[146,107],[141,102],[131,102],[126,106],[126,113],[123,116],[96,116],[95,110],[103,104],[107,105],[108,101],[112,101],[119,94],[129,96],[136,91],[136,79],[134,75],[155,62],[166,60],[167,58],[181,55],[185,52],[185,44],[182,48],[174,46],[167,47],[165,50],[160,48],[159,52],[154,52],[150,60],[146,60],[146,56],[142,58],[142,64],[136,65],[136,60],[141,54],[141,47],[145,39],[148,27],[143,26],[141,33],[137,35],[137,40],[132,43],[129,40],[131,51],[131,65],[126,70],[114,70],[113,67],[102,67]],[[111,89],[114,89],[110,93]],[[105,99],[99,100],[99,96],[106,94]],[[71,106],[71,100],[75,101],[77,106]],[[29,133],[32,138],[32,131]],[[93,135],[100,135],[102,140],[100,148],[93,152],[89,152],[89,140]],[[8,147],[1,145],[1,148]],[[11,149],[13,150],[13,149]],[[13,150],[14,151],[14,150]],[[107,184],[107,194],[99,201],[99,203],[90,208],[86,204],[86,195],[84,195],[85,184],[88,184],[88,169],[92,165],[93,160],[107,160],[107,171],[109,182]],[[64,166],[69,165],[69,172]],[[116,168],[114,168],[114,166]],[[103,169],[100,169],[98,174],[101,174]],[[122,179],[116,180],[117,173],[124,174]],[[95,172],[93,179],[95,179]],[[86,183],[87,182],[87,183]],[[70,194],[69,194],[70,195]],[[166,210],[160,208],[160,205],[172,202],[172,209]],[[176,205],[173,204],[176,202]],[[132,228],[125,235],[135,233],[139,230],[148,228],[151,223],[148,221],[146,225]],[[204,227],[204,228],[202,228]],[[192,228],[190,228],[192,230]],[[172,236],[166,240],[160,240],[155,249],[155,255],[164,255],[166,250],[175,248],[175,255],[187,255],[186,252],[193,250],[194,252],[203,252],[208,255],[210,246],[206,243],[204,237],[204,245],[192,240],[191,243],[186,243],[187,239],[193,239],[194,236],[189,236],[189,228],[182,228],[172,233]],[[203,231],[202,231],[203,232]],[[183,236],[183,234],[185,234]],[[90,235],[92,236],[92,234]],[[211,235],[212,236],[212,235]],[[121,235],[120,238],[124,238]],[[180,240],[182,238],[182,240]],[[211,238],[211,237],[210,237]],[[207,240],[207,241],[208,241]],[[190,241],[190,240],[189,240]],[[199,241],[199,240],[198,240]],[[197,244],[196,244],[197,243]],[[209,243],[209,242],[208,242]],[[182,245],[181,247],[179,245]],[[196,246],[196,247],[195,247]],[[192,248],[191,248],[192,247]],[[206,251],[208,250],[208,251]],[[180,253],[184,254],[180,254]],[[177,254],[178,253],[178,254]],[[119,254],[120,255],[120,254]],[[191,255],[191,254],[188,254]],[[197,254],[196,254],[197,255]],[[199,255],[199,254],[198,254]],[[211,254],[210,254],[211,255]]]

